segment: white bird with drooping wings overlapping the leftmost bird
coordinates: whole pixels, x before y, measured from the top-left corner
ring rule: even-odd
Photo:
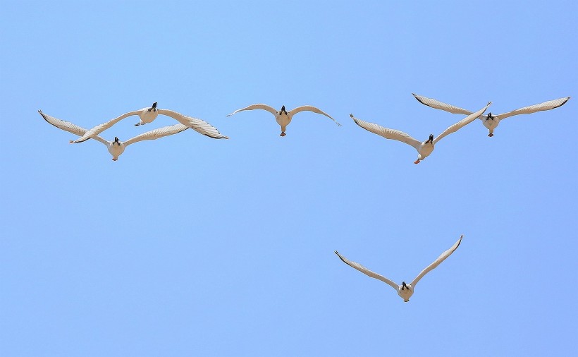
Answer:
[[[207,123],[207,121],[193,118],[192,116],[186,116],[168,109],[156,109],[156,102],[154,102],[150,108],[142,108],[135,111],[129,111],[128,113],[118,116],[117,118],[107,121],[106,123],[94,126],[94,128],[87,130],[85,135],[82,135],[82,137],[73,140],[73,143],[82,143],[83,141],[93,138],[94,135],[99,135],[99,133],[102,133],[106,129],[118,123],[118,121],[121,121],[128,116],[139,116],[140,121],[136,123],[135,126],[140,126],[146,123],[151,123],[159,114],[170,116],[188,128],[191,128],[192,130],[197,131],[203,135],[209,136],[209,138],[228,139],[228,137],[219,133],[219,131],[214,126],[211,126],[211,124]]]

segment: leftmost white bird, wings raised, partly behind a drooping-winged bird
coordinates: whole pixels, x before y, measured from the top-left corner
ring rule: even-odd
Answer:
[[[84,135],[87,130],[85,128],[81,128],[78,125],[70,123],[70,121],[63,121],[61,119],[56,119],[54,116],[49,116],[47,114],[42,113],[42,111],[38,111],[42,118],[45,121],[51,123],[52,125],[56,126],[56,128],[62,129],[63,131],[68,131],[69,133],[73,133],[75,135]],[[176,133],[180,133],[181,131],[187,130],[189,127],[185,126],[184,124],[176,124],[173,126],[164,126],[162,128],[154,129],[152,131],[147,131],[146,133],[142,133],[140,135],[135,136],[126,141],[120,141],[115,136],[113,141],[105,140],[104,138],[100,137],[99,135],[92,136],[91,139],[97,140],[104,145],[109,150],[112,155],[113,161],[116,161],[119,156],[125,151],[125,148],[133,143],[137,143],[138,141],[142,140],[155,140],[162,138],[167,135],[173,135]],[[70,143],[73,143],[73,140],[70,140]]]

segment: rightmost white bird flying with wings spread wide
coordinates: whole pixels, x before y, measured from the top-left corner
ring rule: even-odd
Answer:
[[[455,106],[450,105],[450,104],[445,104],[445,103],[442,103],[436,99],[423,97],[421,95],[416,95],[414,93],[412,93],[412,95],[420,103],[425,104],[428,107],[449,111],[450,113],[453,113],[453,114],[472,114],[472,111],[462,109],[460,107],[455,107]],[[558,107],[562,107],[562,105],[564,105],[568,101],[568,99],[570,99],[570,97],[553,99],[553,100],[549,100],[548,102],[530,105],[529,107],[524,107],[524,108],[508,111],[508,113],[503,113],[503,114],[498,114],[498,115],[493,115],[491,113],[488,113],[488,115],[479,116],[479,119],[481,120],[482,123],[484,123],[484,126],[486,128],[488,128],[488,131],[489,131],[488,136],[492,137],[493,136],[493,130],[496,128],[496,126],[498,126],[498,124],[500,123],[500,120],[506,119],[506,118],[508,118],[508,116],[514,116],[514,115],[518,115],[518,114],[531,114],[531,113],[535,113],[536,111],[555,109]]]

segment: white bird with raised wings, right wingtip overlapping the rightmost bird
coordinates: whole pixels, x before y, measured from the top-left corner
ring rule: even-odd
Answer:
[[[441,138],[443,138],[445,135],[448,135],[450,133],[455,133],[463,126],[465,126],[469,123],[472,123],[472,121],[474,121],[474,119],[476,119],[478,116],[483,114],[484,111],[486,111],[486,109],[488,109],[488,107],[490,105],[491,105],[491,102],[488,102],[488,105],[486,105],[486,107],[480,109],[479,111],[476,111],[474,114],[470,114],[465,119],[462,119],[461,121],[458,121],[457,123],[453,124],[453,126],[448,127],[447,129],[445,129],[445,131],[443,131],[443,133],[438,135],[438,137],[435,139],[433,138],[433,134],[430,134],[429,139],[424,141],[423,143],[419,140],[412,138],[410,135],[407,135],[406,133],[404,133],[402,131],[398,131],[395,129],[383,128],[383,126],[379,126],[379,125],[374,124],[374,123],[368,123],[367,121],[359,120],[359,119],[355,118],[355,116],[353,116],[353,114],[350,114],[350,116],[352,117],[353,121],[355,121],[355,123],[357,123],[358,126],[361,126],[362,128],[364,128],[367,131],[371,131],[371,133],[381,135],[381,136],[383,136],[383,138],[386,138],[386,139],[398,140],[398,141],[401,141],[402,143],[406,143],[406,144],[409,144],[409,145],[412,145],[413,147],[415,147],[415,150],[417,150],[418,154],[417,154],[417,160],[414,162],[414,164],[419,164],[419,162],[421,160],[425,159],[428,155],[431,154],[431,152],[433,151],[434,145],[436,145],[436,143],[439,140],[441,140]]]

